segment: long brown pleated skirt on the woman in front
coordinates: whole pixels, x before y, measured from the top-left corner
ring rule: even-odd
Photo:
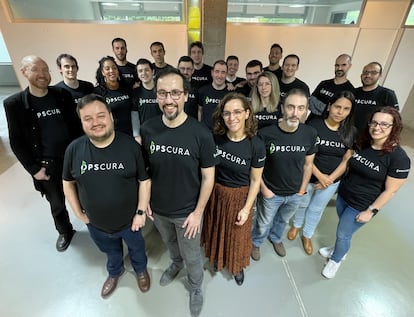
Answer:
[[[231,188],[215,184],[204,213],[201,244],[210,264],[236,275],[250,264],[252,251],[252,211],[242,225],[237,214],[246,203],[249,187]]]

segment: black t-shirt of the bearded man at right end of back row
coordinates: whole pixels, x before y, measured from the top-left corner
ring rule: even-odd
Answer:
[[[371,91],[363,91],[362,87],[355,89],[354,124],[358,129],[358,134],[364,132],[370,115],[385,106],[399,109],[394,90],[382,86]]]

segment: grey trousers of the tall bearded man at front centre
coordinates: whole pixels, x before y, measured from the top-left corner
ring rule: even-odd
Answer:
[[[171,261],[182,268],[185,264],[191,289],[199,289],[203,283],[203,259],[201,256],[200,234],[195,238],[184,237],[186,228],[182,228],[186,218],[170,218],[154,215],[162,241],[166,244]]]

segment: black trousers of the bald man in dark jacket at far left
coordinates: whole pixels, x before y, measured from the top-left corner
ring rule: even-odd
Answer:
[[[62,163],[56,162],[54,168],[49,172],[48,181],[35,180],[35,187],[42,195],[45,195],[50,204],[50,210],[55,222],[55,228],[60,233],[72,232],[73,227],[69,220],[69,213],[65,205],[65,195],[62,185]]]

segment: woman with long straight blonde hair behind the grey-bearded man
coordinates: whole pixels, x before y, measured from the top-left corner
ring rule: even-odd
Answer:
[[[271,72],[263,72],[257,78],[252,93],[252,110],[258,122],[258,129],[277,124],[280,89],[279,81]]]

